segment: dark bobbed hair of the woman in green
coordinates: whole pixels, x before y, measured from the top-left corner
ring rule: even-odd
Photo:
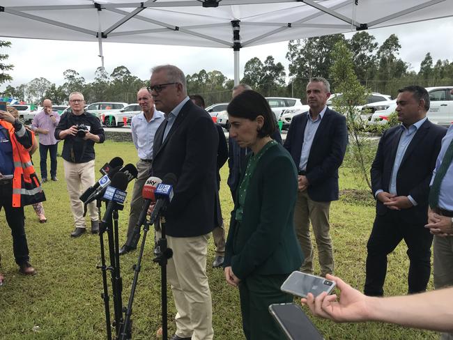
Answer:
[[[264,117],[264,124],[258,131],[258,137],[270,136],[277,130],[275,115],[268,101],[256,91],[247,90],[236,95],[227,107],[228,114],[236,118],[247,118],[254,121],[257,116]]]

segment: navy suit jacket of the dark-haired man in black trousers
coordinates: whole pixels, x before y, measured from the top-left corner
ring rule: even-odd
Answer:
[[[374,162],[371,165],[371,187],[373,194],[381,189],[389,191],[394,160],[397,154],[401,125],[386,130],[379,141]],[[447,129],[425,121],[417,130],[404,153],[397,174],[398,196],[412,196],[417,206],[401,210],[406,222],[427,223],[429,183],[436,158]],[[384,215],[389,209],[376,200],[376,213]]]

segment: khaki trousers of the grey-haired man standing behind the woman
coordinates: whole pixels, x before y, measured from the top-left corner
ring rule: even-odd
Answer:
[[[298,199],[294,208],[295,233],[300,242],[304,263],[302,272],[313,274],[313,246],[310,238],[310,222],[312,222],[313,233],[318,246],[319,264],[321,275],[333,274],[334,261],[332,240],[330,239],[329,224],[330,202],[316,202],[309,198],[307,190],[298,192]]]

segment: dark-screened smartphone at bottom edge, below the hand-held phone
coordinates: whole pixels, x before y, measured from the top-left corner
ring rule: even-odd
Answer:
[[[321,333],[298,304],[271,304],[270,314],[290,340],[322,340]]]

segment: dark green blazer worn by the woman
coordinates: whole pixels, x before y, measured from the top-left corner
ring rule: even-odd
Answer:
[[[250,178],[243,222],[236,223],[236,206],[231,212],[224,267],[231,265],[239,279],[288,274],[300,268],[303,255],[293,225],[297,190],[298,173],[291,155],[280,144],[272,146]]]

